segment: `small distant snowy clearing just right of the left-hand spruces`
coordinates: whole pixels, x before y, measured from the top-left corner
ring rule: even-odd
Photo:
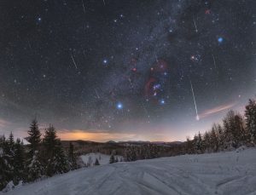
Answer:
[[[101,165],[108,164],[110,155],[106,155],[106,154],[102,154],[102,153],[88,153],[88,154],[80,156],[80,158],[82,158],[84,164],[87,164],[87,165],[90,164],[90,166],[93,166],[93,164],[96,161],[96,158],[98,159],[98,161]],[[116,156],[114,156],[114,158],[118,158],[118,160],[120,161],[120,159],[122,157],[116,155]]]

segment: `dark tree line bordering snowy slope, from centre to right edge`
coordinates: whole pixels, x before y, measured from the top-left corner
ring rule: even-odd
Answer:
[[[256,145],[256,101],[249,100],[244,117],[240,113],[230,111],[223,119],[223,124],[214,123],[212,129],[192,140],[187,138],[183,144],[175,146],[127,146],[124,151],[125,161],[160,158],[181,154],[201,154],[205,152],[221,152],[234,150],[240,146]]]

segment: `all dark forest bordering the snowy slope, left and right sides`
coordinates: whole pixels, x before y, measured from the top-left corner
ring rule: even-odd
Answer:
[[[26,145],[19,138],[15,140],[12,132],[8,138],[5,135],[0,137],[0,190],[9,182],[18,185],[20,182],[37,181],[86,166],[81,163],[81,153],[73,146],[72,141],[68,142],[67,149],[62,146],[53,125],[44,129],[42,135],[37,119],[33,119],[27,134]],[[255,144],[256,101],[249,100],[243,115],[231,110],[222,123],[213,123],[211,130],[199,132],[193,139],[188,137],[186,141],[172,146],[154,143],[119,146],[118,153],[124,157],[124,161],[129,162],[183,154],[231,151],[241,146],[253,147]],[[117,162],[114,158],[117,154],[115,145],[113,143],[111,150],[104,150],[105,153],[111,153],[109,163]],[[99,165],[97,159],[94,163]]]

